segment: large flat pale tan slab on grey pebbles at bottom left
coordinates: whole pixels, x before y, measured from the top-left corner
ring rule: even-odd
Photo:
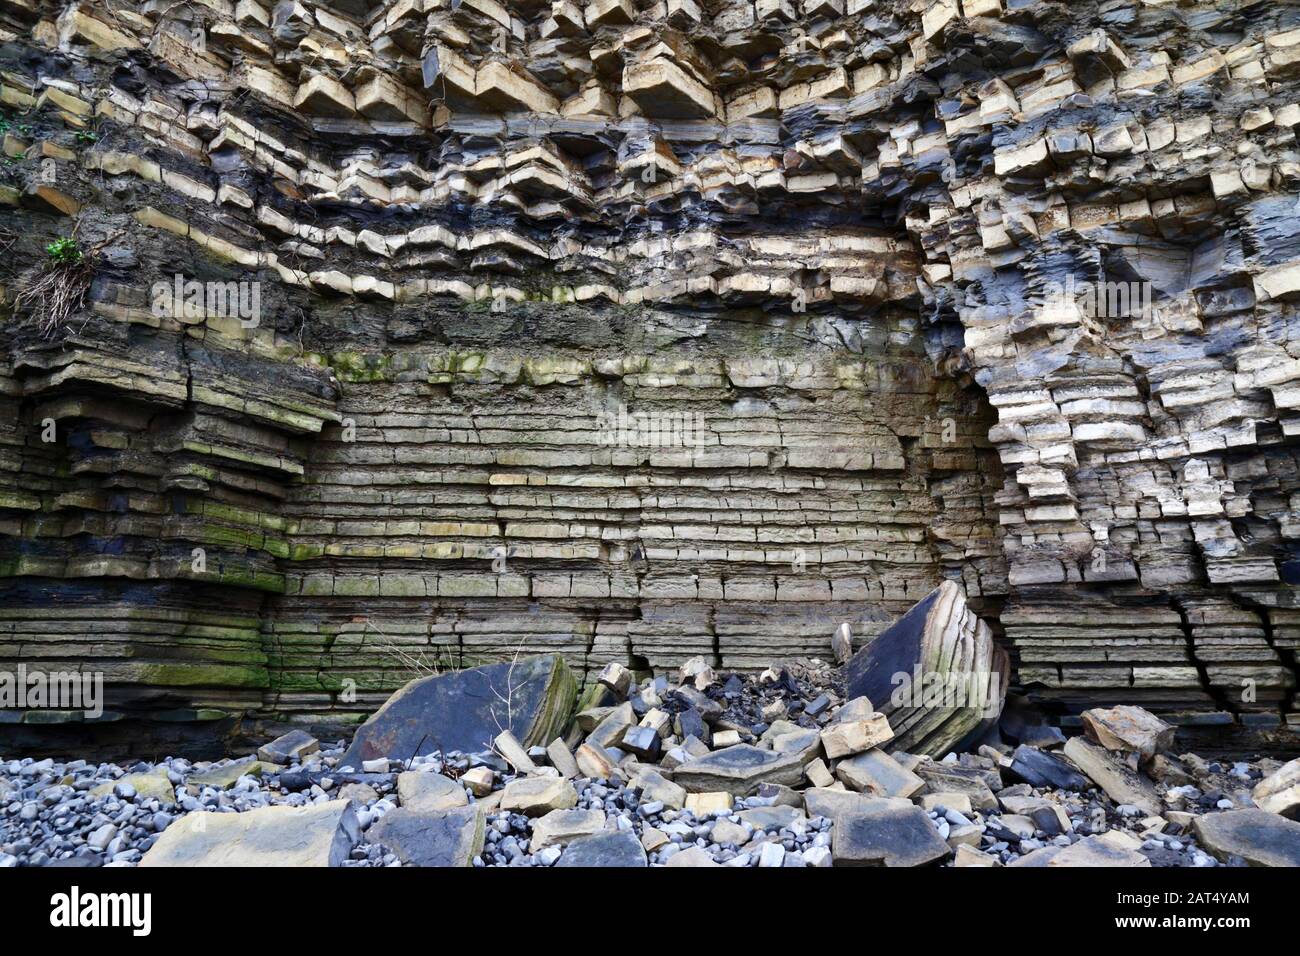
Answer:
[[[162,831],[140,866],[342,866],[360,834],[348,800],[190,813]]]

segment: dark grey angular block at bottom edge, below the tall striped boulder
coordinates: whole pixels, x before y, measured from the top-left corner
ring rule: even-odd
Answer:
[[[836,866],[926,866],[952,849],[919,806],[867,800],[835,817],[831,853]]]

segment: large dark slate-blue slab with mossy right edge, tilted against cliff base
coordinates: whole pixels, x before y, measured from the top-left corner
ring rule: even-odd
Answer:
[[[488,750],[508,730],[524,747],[563,734],[577,684],[559,654],[528,657],[412,680],[356,731],[341,766],[387,757]]]

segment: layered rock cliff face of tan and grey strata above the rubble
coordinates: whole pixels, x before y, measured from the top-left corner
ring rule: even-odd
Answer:
[[[1295,9],[0,31],[0,661],[165,740],[827,657],[956,579],[1049,700],[1296,724]]]

